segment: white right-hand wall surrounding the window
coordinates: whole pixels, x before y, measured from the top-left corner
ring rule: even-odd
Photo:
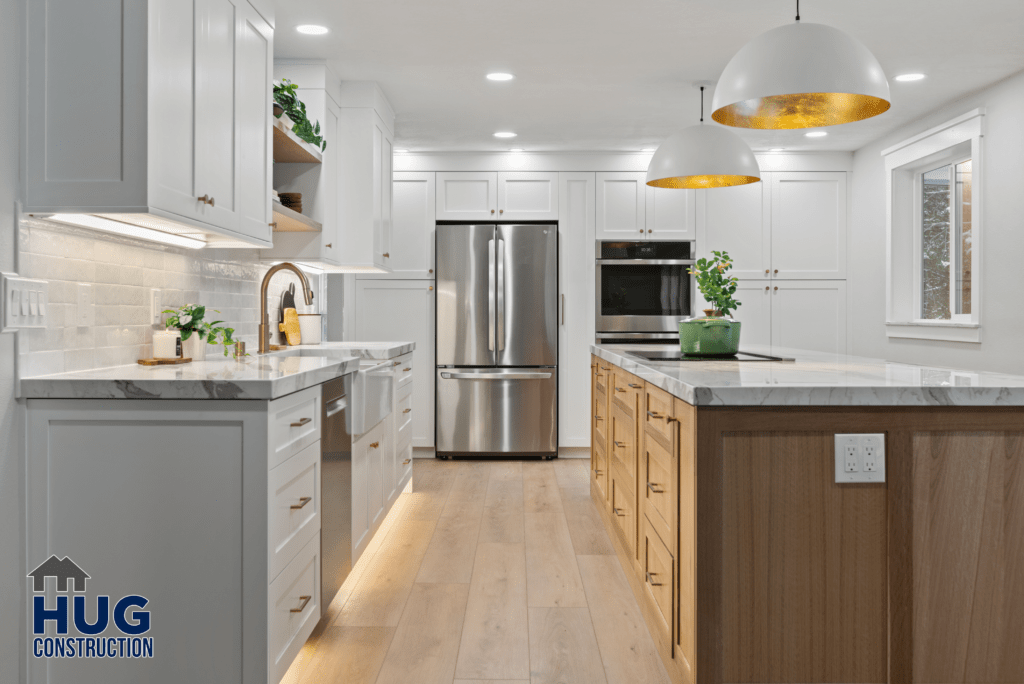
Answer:
[[[937,76],[938,78],[938,76]],[[985,108],[982,342],[888,339],[886,186],[882,151],[975,108]],[[851,352],[861,356],[1024,374],[1024,72],[905,126],[854,154],[847,280]]]

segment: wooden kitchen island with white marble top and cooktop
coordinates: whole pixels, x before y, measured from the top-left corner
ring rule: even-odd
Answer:
[[[1024,681],[1024,377],[673,348],[592,346],[591,491],[674,681]]]

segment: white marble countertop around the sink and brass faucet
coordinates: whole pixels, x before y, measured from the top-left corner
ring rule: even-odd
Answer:
[[[216,349],[180,366],[115,366],[22,378],[28,399],[275,399],[354,373],[360,359],[409,353],[412,342],[327,342],[241,360]]]

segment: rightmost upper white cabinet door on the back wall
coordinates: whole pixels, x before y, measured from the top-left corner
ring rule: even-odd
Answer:
[[[846,173],[773,173],[771,187],[773,277],[845,279]]]

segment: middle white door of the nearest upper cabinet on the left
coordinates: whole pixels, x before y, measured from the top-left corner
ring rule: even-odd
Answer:
[[[240,224],[234,126],[239,4],[196,0],[196,196],[207,198],[200,208],[202,220],[229,230]]]

